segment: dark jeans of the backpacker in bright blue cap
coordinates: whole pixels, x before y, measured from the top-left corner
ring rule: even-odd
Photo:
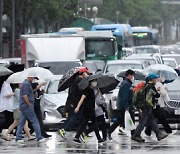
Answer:
[[[142,116],[133,136],[140,136],[146,124],[151,126],[156,136],[160,133],[156,119],[152,112],[152,107],[150,106],[146,106],[142,109]]]

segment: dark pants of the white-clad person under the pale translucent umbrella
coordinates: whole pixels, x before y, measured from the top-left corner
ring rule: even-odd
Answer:
[[[155,118],[157,118],[157,121],[163,125],[165,132],[172,133],[172,129],[169,126],[168,122],[166,121],[166,116],[167,116],[166,111],[162,107],[157,106],[156,109],[153,110],[153,114]],[[147,125],[145,133],[147,135],[151,135],[151,130],[152,130],[151,126]]]

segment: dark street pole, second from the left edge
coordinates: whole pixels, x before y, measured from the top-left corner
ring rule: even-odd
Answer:
[[[15,3],[16,0],[12,0],[12,47],[9,57],[14,57],[14,46],[15,46]]]

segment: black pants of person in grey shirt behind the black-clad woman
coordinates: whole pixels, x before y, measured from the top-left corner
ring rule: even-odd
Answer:
[[[101,130],[102,130],[103,139],[106,140],[107,139],[107,128],[106,128],[106,122],[104,119],[104,115],[100,115],[100,116],[96,117],[96,119],[98,122],[98,127],[101,128]],[[90,127],[89,129],[87,129],[85,131],[85,134],[88,135],[91,132],[93,132],[93,127]]]

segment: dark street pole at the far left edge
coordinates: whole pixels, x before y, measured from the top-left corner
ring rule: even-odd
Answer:
[[[2,16],[3,16],[3,0],[0,0],[0,57],[3,56]]]

